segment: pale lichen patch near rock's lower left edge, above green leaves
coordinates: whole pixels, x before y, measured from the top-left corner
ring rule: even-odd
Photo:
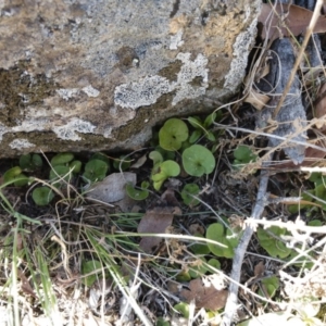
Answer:
[[[96,126],[91,123],[74,117],[67,124],[54,127],[53,131],[60,139],[76,141],[82,139],[77,133],[92,134],[95,129]]]

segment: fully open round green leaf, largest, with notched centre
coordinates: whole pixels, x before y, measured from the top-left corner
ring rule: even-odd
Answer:
[[[201,145],[192,145],[183,152],[185,171],[192,176],[210,174],[215,167],[215,158],[211,151]]]

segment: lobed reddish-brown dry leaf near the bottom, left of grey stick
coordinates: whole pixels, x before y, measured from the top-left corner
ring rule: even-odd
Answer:
[[[192,279],[189,283],[189,289],[183,289],[180,296],[190,303],[195,300],[197,309],[218,310],[225,306],[228,291],[216,290],[212,285],[205,287],[200,278]]]

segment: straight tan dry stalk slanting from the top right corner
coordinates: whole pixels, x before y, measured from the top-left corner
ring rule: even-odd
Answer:
[[[286,87],[284,89],[284,92],[283,92],[283,95],[281,95],[281,97],[279,99],[279,102],[278,102],[278,104],[277,104],[277,106],[276,106],[276,109],[275,109],[275,111],[273,113],[273,118],[275,118],[277,116],[277,114],[278,114],[278,112],[279,112],[279,110],[280,110],[280,108],[281,108],[281,105],[283,105],[283,103],[284,103],[284,101],[285,101],[285,99],[287,97],[287,93],[289,92],[289,89],[290,89],[290,87],[291,87],[291,85],[293,83],[293,79],[294,79],[294,76],[297,74],[298,67],[299,67],[300,62],[302,60],[302,57],[304,54],[304,50],[306,48],[309,39],[310,39],[310,37],[311,37],[311,35],[312,35],[312,33],[314,30],[314,27],[316,25],[316,22],[318,20],[319,14],[321,14],[322,5],[323,5],[323,0],[318,0],[317,3],[316,3],[315,10],[314,10],[313,16],[312,16],[312,18],[310,21],[310,24],[309,24],[308,28],[306,28],[302,46],[300,48],[299,54],[297,57],[297,60],[294,62],[294,66],[291,70],[290,78],[289,78],[289,80],[288,80],[288,83],[287,83],[287,85],[286,85]]]

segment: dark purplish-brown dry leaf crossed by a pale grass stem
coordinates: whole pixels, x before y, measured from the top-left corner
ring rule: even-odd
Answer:
[[[165,234],[166,228],[172,225],[172,208],[160,206],[146,212],[138,225],[137,231],[139,234]],[[139,247],[145,252],[152,253],[161,241],[162,238],[148,236],[140,240]]]

